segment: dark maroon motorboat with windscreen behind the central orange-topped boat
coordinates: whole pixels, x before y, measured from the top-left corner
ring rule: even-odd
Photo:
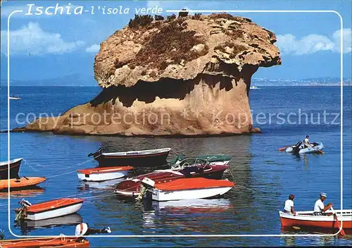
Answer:
[[[127,178],[116,186],[115,192],[126,197],[137,197],[142,187],[143,178],[150,178],[156,184],[180,178],[221,179],[227,168],[229,168],[228,165],[210,164],[204,159],[184,159],[171,169],[156,170],[152,173],[138,175],[135,178]]]

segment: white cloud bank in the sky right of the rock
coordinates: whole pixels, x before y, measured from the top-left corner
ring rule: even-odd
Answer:
[[[344,53],[350,53],[351,47],[351,28],[344,28]],[[282,54],[313,54],[317,51],[340,51],[341,31],[337,30],[332,34],[332,38],[325,35],[307,35],[297,39],[294,35],[277,35],[277,46]]]

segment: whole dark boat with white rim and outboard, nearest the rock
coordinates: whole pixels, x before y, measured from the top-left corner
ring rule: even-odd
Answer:
[[[125,151],[104,153],[99,149],[94,154],[94,159],[99,162],[99,166],[133,166],[133,167],[158,167],[167,164],[166,159],[170,148]]]

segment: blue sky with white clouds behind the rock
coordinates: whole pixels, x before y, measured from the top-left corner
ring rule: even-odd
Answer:
[[[27,4],[32,4],[31,7]],[[35,15],[37,7],[63,6],[64,13]],[[81,7],[87,12],[75,15]],[[94,14],[92,14],[92,6]],[[121,7],[120,7],[121,6]],[[135,8],[194,11],[334,10],[344,22],[344,77],[351,78],[351,1],[1,1],[1,79],[7,78],[7,25],[10,21],[11,79],[41,80],[75,74],[94,77],[99,44],[127,25]],[[100,12],[97,8],[100,7]],[[103,14],[103,8],[122,13]],[[128,13],[123,13],[127,11]],[[70,10],[70,15],[67,10]],[[52,9],[49,9],[49,14]],[[199,10],[199,11],[198,11]],[[26,14],[25,14],[26,13]],[[30,15],[31,14],[31,15]],[[207,14],[207,13],[203,13]],[[282,65],[260,68],[253,77],[303,79],[340,76],[340,18],[337,13],[232,13],[251,18],[277,35]],[[89,85],[96,82],[90,80]]]

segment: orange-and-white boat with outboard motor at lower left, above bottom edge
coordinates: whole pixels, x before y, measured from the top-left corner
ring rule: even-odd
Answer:
[[[25,220],[39,221],[47,218],[67,216],[71,213],[76,213],[81,209],[83,202],[84,199],[61,198],[54,199],[49,202],[33,204],[28,207],[22,206],[18,209],[14,209],[14,211],[16,214],[23,211],[23,218]]]

